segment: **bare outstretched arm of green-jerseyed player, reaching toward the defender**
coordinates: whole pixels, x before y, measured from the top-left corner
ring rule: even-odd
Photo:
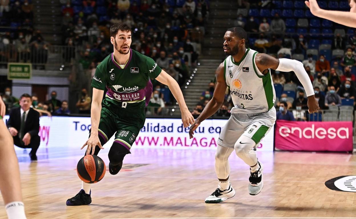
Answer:
[[[156,77],[156,80],[161,82],[162,84],[166,84],[169,90],[172,92],[174,98],[176,98],[180,112],[182,112],[182,122],[183,126],[188,127],[193,124],[194,118],[193,115],[189,112],[187,104],[185,104],[183,93],[179,88],[179,85],[174,78],[167,74],[165,71],[161,71],[161,73]]]

